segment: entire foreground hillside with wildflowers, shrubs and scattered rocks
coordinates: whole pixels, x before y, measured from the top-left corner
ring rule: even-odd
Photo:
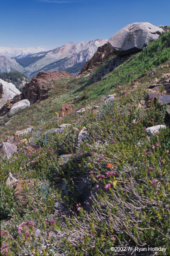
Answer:
[[[109,61],[0,118],[2,255],[170,254],[170,31]]]

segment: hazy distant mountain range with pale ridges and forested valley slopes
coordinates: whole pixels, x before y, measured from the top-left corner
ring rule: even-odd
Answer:
[[[19,52],[16,48],[0,47],[0,73],[18,70],[31,78],[40,71],[63,70],[78,74],[85,62],[88,61],[98,47],[107,40],[96,39],[87,42],[70,42],[53,50],[44,51],[42,48],[26,48]],[[40,52],[30,53],[31,49]],[[25,56],[24,56],[25,54]]]

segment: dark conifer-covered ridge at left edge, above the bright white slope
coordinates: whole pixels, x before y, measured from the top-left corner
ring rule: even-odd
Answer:
[[[0,79],[14,84],[17,89],[20,89],[20,85],[23,83],[23,80],[28,81],[27,76],[19,71],[0,73]]]

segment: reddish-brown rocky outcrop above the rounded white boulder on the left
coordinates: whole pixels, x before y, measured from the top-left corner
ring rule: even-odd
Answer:
[[[51,88],[48,83],[51,83],[52,80],[61,80],[63,77],[68,78],[72,75],[65,71],[39,72],[23,87],[24,99],[28,99],[31,103],[47,99],[48,91]]]

